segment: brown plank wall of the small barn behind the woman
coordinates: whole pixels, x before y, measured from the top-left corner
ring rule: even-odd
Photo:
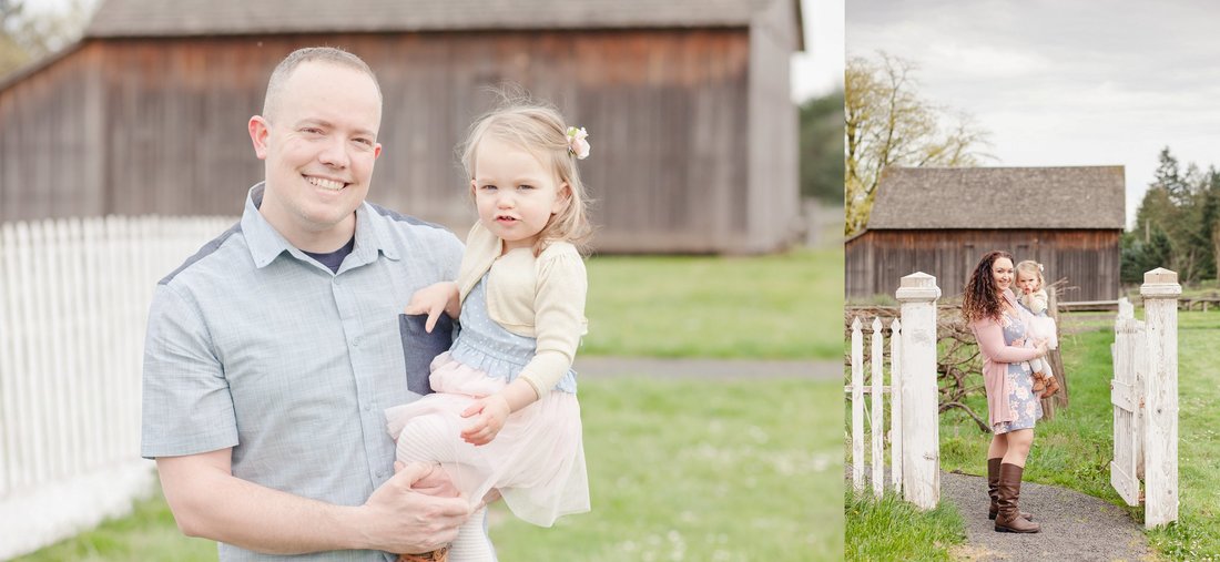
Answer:
[[[1048,283],[1068,278],[1065,301],[1109,300],[1119,293],[1120,230],[869,230],[847,243],[847,296],[893,295],[903,276],[936,276],[943,297],[961,295],[966,277],[991,250],[1046,266]]]

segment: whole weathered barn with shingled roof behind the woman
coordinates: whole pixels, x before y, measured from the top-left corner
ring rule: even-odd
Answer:
[[[1118,299],[1124,187],[1121,166],[889,169],[847,241],[847,296],[892,296],[916,271],[958,296],[983,254],[1006,250],[1066,278],[1064,300]]]

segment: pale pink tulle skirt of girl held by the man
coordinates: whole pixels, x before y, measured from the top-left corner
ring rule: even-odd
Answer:
[[[522,521],[550,527],[559,516],[589,511],[589,484],[576,395],[551,390],[509,416],[490,443],[461,439],[472,423],[461,412],[503,389],[499,377],[440,354],[432,362],[433,394],[386,411],[403,462],[439,462],[454,485],[478,503],[492,489]]]

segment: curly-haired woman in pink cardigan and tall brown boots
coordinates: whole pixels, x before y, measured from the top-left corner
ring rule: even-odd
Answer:
[[[966,280],[961,313],[975,333],[983,356],[983,386],[992,443],[987,449],[989,518],[1002,533],[1037,533],[1033,516],[1019,508],[1021,473],[1033,444],[1033,425],[1042,405],[1032,391],[1033,377],[1026,361],[1047,354],[1046,341],[1026,341],[1028,312],[1013,295],[1013,256],[991,251],[978,261]]]

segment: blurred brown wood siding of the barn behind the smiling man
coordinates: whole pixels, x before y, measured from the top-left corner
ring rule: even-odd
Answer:
[[[766,193],[782,178],[747,188],[744,28],[107,39],[0,91],[0,218],[238,215],[264,176],[246,122],[274,65],[316,44],[378,74],[370,200],[459,233],[473,211],[454,146],[505,80],[588,128],[600,251],[725,251],[749,234],[744,207],[783,196]],[[769,88],[787,91],[781,78]]]

